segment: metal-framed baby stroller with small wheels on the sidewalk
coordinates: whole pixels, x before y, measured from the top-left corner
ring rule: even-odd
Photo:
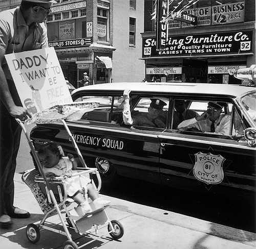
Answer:
[[[19,123],[20,127],[22,127],[22,129],[25,133],[25,136],[26,136],[29,146],[31,148],[31,153],[34,157],[34,161],[35,161],[35,163],[38,167],[38,171],[40,173],[40,175],[33,175],[33,173],[35,171],[34,169],[27,170],[27,171],[25,171],[25,173],[23,175],[23,180],[30,187],[34,196],[36,197],[36,200],[37,200],[39,206],[41,207],[42,211],[45,213],[44,217],[42,218],[40,223],[38,223],[38,225],[31,223],[27,226],[26,236],[27,236],[28,240],[31,243],[38,242],[40,239],[40,230],[41,229],[45,229],[45,230],[49,230],[49,231],[52,231],[52,232],[55,232],[55,233],[58,233],[61,235],[65,235],[67,237],[67,241],[63,245],[64,249],[81,248],[83,246],[88,245],[89,243],[94,242],[95,240],[97,240],[99,238],[104,238],[106,236],[106,234],[110,234],[111,237],[115,240],[121,238],[123,236],[123,232],[124,232],[123,227],[119,221],[110,220],[110,218],[108,217],[108,215],[105,211],[106,207],[97,209],[94,206],[93,202],[90,202],[90,206],[93,210],[92,212],[87,213],[83,216],[79,216],[79,215],[77,216],[77,214],[72,215],[72,212],[74,211],[74,209],[70,209],[70,207],[72,206],[71,202],[74,202],[74,201],[73,201],[73,199],[71,199],[67,196],[65,182],[63,181],[64,177],[46,177],[45,176],[44,171],[42,171],[42,166],[39,161],[34,144],[28,136],[28,133],[27,133],[24,123],[22,121],[20,121],[19,119],[16,119],[16,120]],[[95,186],[95,183],[93,182],[93,179],[92,179],[92,184],[97,189],[97,191],[99,191],[101,188],[101,179],[100,179],[98,170],[96,168],[87,167],[87,165],[81,155],[81,152],[80,152],[80,150],[79,150],[79,148],[78,148],[78,146],[68,128],[66,121],[64,119],[61,119],[61,121],[70,136],[72,144],[73,144],[73,146],[77,152],[77,155],[79,157],[79,160],[83,166],[83,167],[77,168],[77,173],[75,173],[73,175],[73,177],[89,174],[90,178],[92,179],[92,175],[96,175],[97,182],[98,182],[97,188]],[[32,179],[33,186],[31,184],[28,184],[28,181],[27,181],[28,176],[33,177],[33,179]],[[33,190],[35,190],[35,188],[37,188],[36,194],[35,194],[35,191],[33,191]],[[41,196],[43,196],[43,201],[42,201],[42,198],[40,198]],[[63,217],[61,210],[64,211],[64,213],[66,214],[66,217]],[[55,229],[52,226],[46,225],[46,219],[50,215],[52,215],[56,212],[60,219],[60,223],[58,223],[57,225],[62,225],[63,231]],[[67,225],[66,221],[67,221],[68,225]],[[106,226],[106,225],[108,226],[108,233],[103,234],[101,236],[97,235],[98,229],[103,226]],[[81,234],[83,234],[84,236],[92,235],[92,236],[95,236],[96,238],[92,239],[91,241],[89,241],[87,243],[84,243],[84,244],[78,246],[78,244],[72,240],[72,236],[69,232],[68,227],[70,229],[73,229],[75,231],[75,233],[79,233],[80,235]]]

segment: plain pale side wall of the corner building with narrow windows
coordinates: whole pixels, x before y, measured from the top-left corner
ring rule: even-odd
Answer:
[[[114,82],[138,82],[145,77],[141,59],[144,30],[144,1],[116,0],[113,3]]]

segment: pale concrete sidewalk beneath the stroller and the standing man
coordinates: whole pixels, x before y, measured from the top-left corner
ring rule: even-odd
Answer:
[[[42,212],[29,188],[22,182],[21,175],[15,173],[15,206],[31,213],[28,219],[13,219],[12,229],[0,229],[0,244],[4,249],[18,248],[62,248],[67,240],[63,235],[41,231],[41,238],[31,244],[26,238],[26,226],[42,218]],[[83,248],[102,249],[140,249],[140,248],[177,248],[177,249],[250,249],[256,247],[256,234],[233,229],[200,220],[197,218],[143,206],[109,196],[111,207],[106,211],[110,219],[119,220],[124,227],[124,235],[119,241],[98,239]],[[235,218],[235,217],[234,217]],[[55,215],[50,218],[58,222]],[[106,233],[106,227],[99,233]],[[81,236],[74,232],[72,238],[77,242],[88,242],[91,236]]]

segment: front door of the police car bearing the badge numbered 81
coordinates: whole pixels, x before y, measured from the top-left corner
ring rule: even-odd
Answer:
[[[228,106],[234,112],[231,102]],[[204,110],[196,111],[202,114]],[[161,182],[203,192],[221,192],[223,188],[232,193],[255,191],[256,150],[231,133],[178,131],[170,126],[159,135]]]

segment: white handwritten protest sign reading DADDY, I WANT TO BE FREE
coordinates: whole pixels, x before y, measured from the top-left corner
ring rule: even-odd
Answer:
[[[31,113],[72,98],[53,47],[5,55],[19,98]]]

